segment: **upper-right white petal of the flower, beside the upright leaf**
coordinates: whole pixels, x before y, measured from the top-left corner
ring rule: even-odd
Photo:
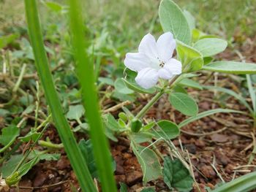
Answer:
[[[176,40],[173,39],[173,34],[170,32],[167,32],[165,34],[162,34],[157,39],[157,51],[159,57],[163,61],[168,61],[173,56],[173,51],[176,48]]]

